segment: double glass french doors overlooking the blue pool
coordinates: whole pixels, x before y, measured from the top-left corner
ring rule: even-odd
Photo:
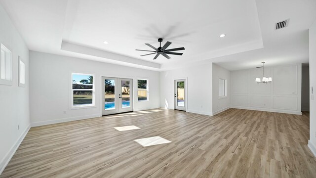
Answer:
[[[133,111],[133,80],[102,77],[102,115]]]

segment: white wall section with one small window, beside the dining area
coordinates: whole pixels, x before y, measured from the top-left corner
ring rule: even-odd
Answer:
[[[212,88],[213,88],[213,116],[218,114],[226,109],[229,109],[231,106],[231,72],[221,66],[212,64]],[[219,79],[227,80],[227,97],[219,97]]]

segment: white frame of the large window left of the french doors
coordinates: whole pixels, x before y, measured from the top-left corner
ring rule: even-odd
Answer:
[[[87,76],[93,76],[93,85],[92,89],[73,89],[73,75],[87,75]],[[77,72],[71,72],[70,74],[70,107],[69,109],[84,109],[84,108],[92,108],[95,106],[95,75],[94,74],[87,74],[87,73],[77,73]],[[92,91],[92,103],[91,104],[80,104],[80,105],[74,105],[74,91]]]

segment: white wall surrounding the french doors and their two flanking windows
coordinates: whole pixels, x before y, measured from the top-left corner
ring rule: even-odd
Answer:
[[[101,77],[133,79],[134,111],[158,108],[159,72],[73,57],[30,52],[30,117],[32,126],[101,116]],[[71,73],[95,75],[96,107],[69,109]],[[149,101],[137,101],[137,79],[149,80]],[[66,113],[64,113],[64,111]]]

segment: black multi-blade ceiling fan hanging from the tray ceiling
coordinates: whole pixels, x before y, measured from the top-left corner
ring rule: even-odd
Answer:
[[[177,50],[184,50],[185,49],[184,47],[178,47],[178,48],[173,48],[173,49],[166,49],[169,45],[171,45],[171,42],[167,42],[161,47],[162,38],[159,38],[158,42],[160,43],[160,46],[158,48],[156,48],[156,47],[154,47],[154,46],[152,46],[150,44],[145,44],[145,45],[148,45],[149,47],[155,49],[155,51],[154,50],[142,50],[142,49],[136,49],[136,50],[153,52],[153,53],[149,53],[149,54],[145,54],[145,55],[141,55],[141,56],[156,54],[154,59],[157,59],[157,57],[161,54],[165,58],[171,59],[171,57],[168,56],[167,54],[173,54],[173,55],[182,55],[183,54],[183,53],[171,52],[171,51],[177,51]]]

